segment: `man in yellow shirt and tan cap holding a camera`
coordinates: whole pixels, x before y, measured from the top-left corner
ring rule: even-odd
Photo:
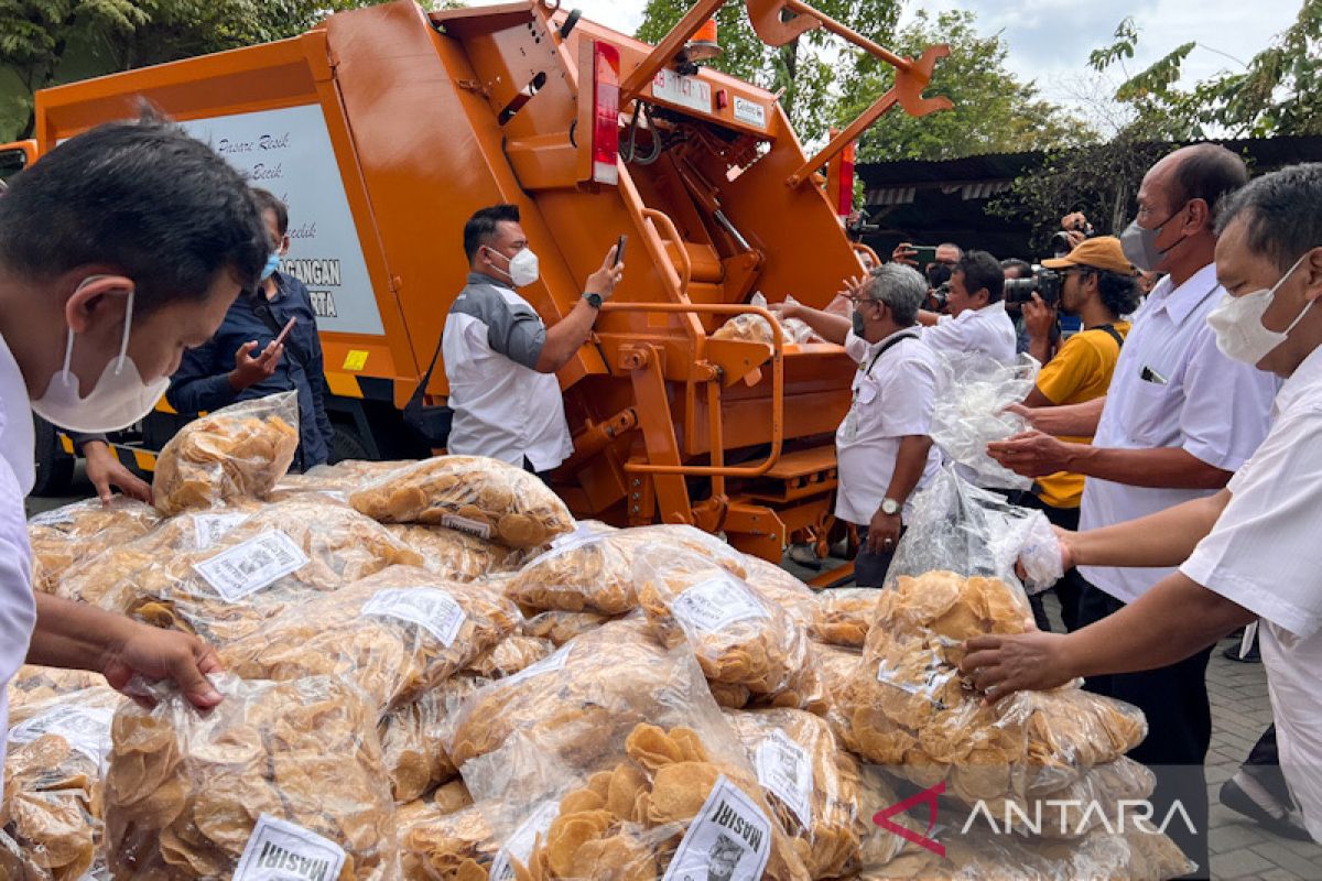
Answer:
[[[1036,386],[1023,404],[1026,407],[1059,407],[1081,404],[1107,394],[1110,375],[1120,358],[1120,347],[1129,333],[1129,322],[1121,316],[1138,308],[1138,275],[1120,247],[1120,239],[1105,235],[1084,239],[1073,251],[1063,258],[1043,260],[1042,265],[1056,269],[1064,279],[1060,287],[1060,312],[1079,316],[1083,330],[1069,337],[1055,357],[1042,366]],[[1034,349],[1046,350],[1046,342],[1055,316],[1040,299],[1034,295],[1032,302],[1023,306],[1025,324],[1029,326]],[[1062,439],[1087,444],[1091,437]],[[1032,495],[1025,499],[1029,507],[1046,512],[1056,526],[1066,530],[1079,528],[1079,502],[1083,499],[1083,474],[1059,472],[1040,477],[1034,483]],[[1079,622],[1079,593],[1081,579],[1071,569],[1056,582],[1056,596],[1060,598],[1060,618],[1067,630],[1073,630]],[[1048,630],[1042,600],[1032,598],[1034,617],[1042,630]]]

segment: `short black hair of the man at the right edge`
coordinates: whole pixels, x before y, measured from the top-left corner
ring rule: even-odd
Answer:
[[[1255,178],[1231,195],[1216,217],[1216,234],[1244,218],[1247,244],[1281,272],[1322,244],[1322,162],[1290,165]]]

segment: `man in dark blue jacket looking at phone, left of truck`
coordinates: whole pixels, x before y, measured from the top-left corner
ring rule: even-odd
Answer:
[[[290,250],[290,215],[266,190],[253,190],[271,236],[271,259],[256,292],[243,292],[210,342],[184,353],[165,398],[181,413],[219,409],[239,400],[282,391],[299,392],[299,452],[293,468],[307,470],[330,457],[330,420],[325,409],[325,370],[317,316],[301,281],[280,272]],[[284,343],[275,338],[297,318]]]

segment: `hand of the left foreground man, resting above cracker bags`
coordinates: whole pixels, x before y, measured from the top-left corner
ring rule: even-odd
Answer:
[[[198,709],[221,703],[221,693],[206,679],[221,671],[214,649],[192,634],[136,621],[123,634],[111,643],[100,667],[112,688],[124,691],[135,675],[153,682],[172,679]]]

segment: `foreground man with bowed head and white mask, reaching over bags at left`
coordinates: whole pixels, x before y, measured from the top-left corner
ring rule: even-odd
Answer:
[[[266,251],[238,173],[149,119],[69,139],[0,195],[0,730],[25,660],[99,671],[116,688],[173,679],[196,705],[219,703],[206,679],[219,663],[197,637],[33,594],[32,413],[78,432],[140,420],[184,350],[256,283]]]

